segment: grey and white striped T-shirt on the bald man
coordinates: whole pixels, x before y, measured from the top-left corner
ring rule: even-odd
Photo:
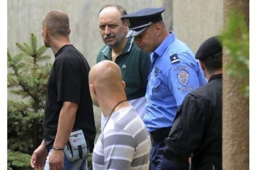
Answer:
[[[92,166],[101,169],[147,169],[151,141],[132,106],[114,112],[95,144]]]

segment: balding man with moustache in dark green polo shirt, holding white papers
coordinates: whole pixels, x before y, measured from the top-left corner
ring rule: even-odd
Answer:
[[[134,43],[134,38],[125,38],[129,26],[121,17],[126,14],[124,8],[119,5],[104,5],[100,9],[99,28],[105,45],[100,49],[97,63],[111,60],[119,65],[126,83],[127,100],[143,119],[146,113],[145,93],[151,61],[148,53],[141,51]],[[105,123],[106,118],[101,115],[101,129]]]

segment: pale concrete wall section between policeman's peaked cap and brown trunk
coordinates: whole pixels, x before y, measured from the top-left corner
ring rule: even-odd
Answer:
[[[223,28],[223,0],[173,0],[173,31],[194,53]]]

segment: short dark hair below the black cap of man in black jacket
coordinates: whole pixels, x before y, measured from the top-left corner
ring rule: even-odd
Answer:
[[[200,59],[199,59],[200,60]],[[201,59],[209,72],[222,69],[222,53],[219,53],[213,57]]]

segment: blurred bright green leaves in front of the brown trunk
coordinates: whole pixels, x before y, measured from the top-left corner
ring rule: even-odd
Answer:
[[[220,39],[229,56],[225,69],[230,76],[243,80],[241,90],[245,97],[249,97],[249,27],[242,12],[230,10],[227,28]]]

